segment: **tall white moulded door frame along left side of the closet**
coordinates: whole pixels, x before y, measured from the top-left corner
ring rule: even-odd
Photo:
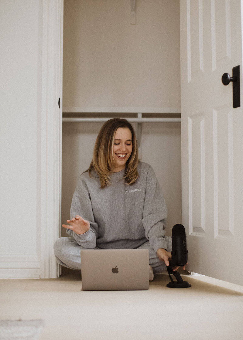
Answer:
[[[58,277],[62,171],[63,0],[43,0],[40,278]],[[60,101],[60,108],[58,100]]]

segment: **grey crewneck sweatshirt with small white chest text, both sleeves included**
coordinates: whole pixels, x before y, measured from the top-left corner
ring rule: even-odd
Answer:
[[[111,174],[111,184],[100,188],[93,171],[80,176],[72,198],[70,218],[80,215],[90,222],[90,230],[77,235],[67,229],[84,248],[134,249],[149,240],[155,252],[167,249],[165,236],[167,207],[150,165],[139,162],[139,177],[133,185],[125,183],[124,170]]]

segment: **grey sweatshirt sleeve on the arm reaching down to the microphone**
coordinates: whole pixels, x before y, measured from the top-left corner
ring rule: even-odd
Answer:
[[[145,236],[155,252],[159,248],[168,249],[168,236],[165,236],[167,207],[156,178],[155,172],[149,166],[146,179],[146,191],[142,223]]]

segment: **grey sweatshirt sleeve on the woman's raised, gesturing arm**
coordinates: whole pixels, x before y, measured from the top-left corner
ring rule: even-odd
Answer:
[[[82,235],[78,235],[71,229],[67,229],[67,234],[74,237],[76,242],[79,245],[82,245],[84,248],[95,248],[96,239],[98,237],[98,224],[95,223],[88,188],[84,179],[82,178],[80,178],[80,181],[77,184],[74,195],[72,197],[70,219],[72,219],[76,215],[79,215],[90,222],[90,230]]]

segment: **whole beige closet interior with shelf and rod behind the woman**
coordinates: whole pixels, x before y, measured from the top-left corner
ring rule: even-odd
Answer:
[[[181,223],[179,0],[64,0],[62,224],[96,136],[113,117],[134,126],[171,235]]]

